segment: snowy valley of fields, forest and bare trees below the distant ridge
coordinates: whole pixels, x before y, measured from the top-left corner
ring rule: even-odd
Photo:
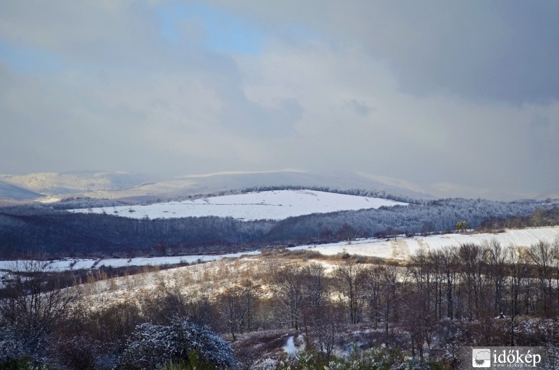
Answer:
[[[171,370],[169,351],[194,348],[192,366],[456,369],[463,346],[559,345],[556,200],[300,185],[125,199],[101,196],[128,191],[103,176],[64,178],[97,197],[0,208],[0,363]]]

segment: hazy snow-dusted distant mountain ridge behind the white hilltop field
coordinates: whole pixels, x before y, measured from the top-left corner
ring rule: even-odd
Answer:
[[[377,190],[416,199],[435,199],[428,194],[414,192],[405,187],[387,185],[356,173],[344,171],[311,173],[284,170],[215,173],[178,178],[156,178],[155,176],[109,171],[75,171],[31,173],[23,176],[0,175],[0,181],[51,197],[83,196],[97,199],[124,199],[131,202],[173,199],[195,194],[263,186]]]

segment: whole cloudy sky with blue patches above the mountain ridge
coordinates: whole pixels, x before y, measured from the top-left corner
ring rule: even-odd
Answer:
[[[559,189],[559,1],[0,2],[0,173]]]

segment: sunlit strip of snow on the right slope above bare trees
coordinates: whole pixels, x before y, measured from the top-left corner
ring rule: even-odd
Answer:
[[[507,229],[499,234],[444,234],[397,238],[395,240],[372,240],[331,243],[323,245],[298,246],[291,250],[314,250],[323,255],[337,255],[347,252],[350,255],[368,257],[406,259],[419,249],[436,250],[446,246],[459,246],[463,243],[481,245],[495,239],[501,246],[529,247],[539,241],[553,243],[559,238],[559,226],[536,229]]]

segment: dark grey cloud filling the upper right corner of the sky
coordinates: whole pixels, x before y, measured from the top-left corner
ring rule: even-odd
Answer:
[[[449,90],[467,99],[549,103],[559,96],[559,3],[433,0],[282,3],[213,1],[238,11],[317,29],[329,42],[354,44],[386,60],[402,90]],[[249,4],[249,5],[247,5]]]

